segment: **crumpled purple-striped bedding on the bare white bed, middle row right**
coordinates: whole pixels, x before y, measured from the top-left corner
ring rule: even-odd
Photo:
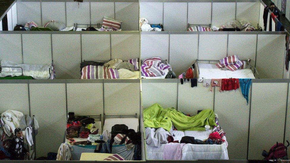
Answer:
[[[242,67],[243,62],[239,60],[239,56],[228,56],[220,59],[220,62],[216,64],[218,68],[226,67],[230,71],[236,71],[238,68]]]

